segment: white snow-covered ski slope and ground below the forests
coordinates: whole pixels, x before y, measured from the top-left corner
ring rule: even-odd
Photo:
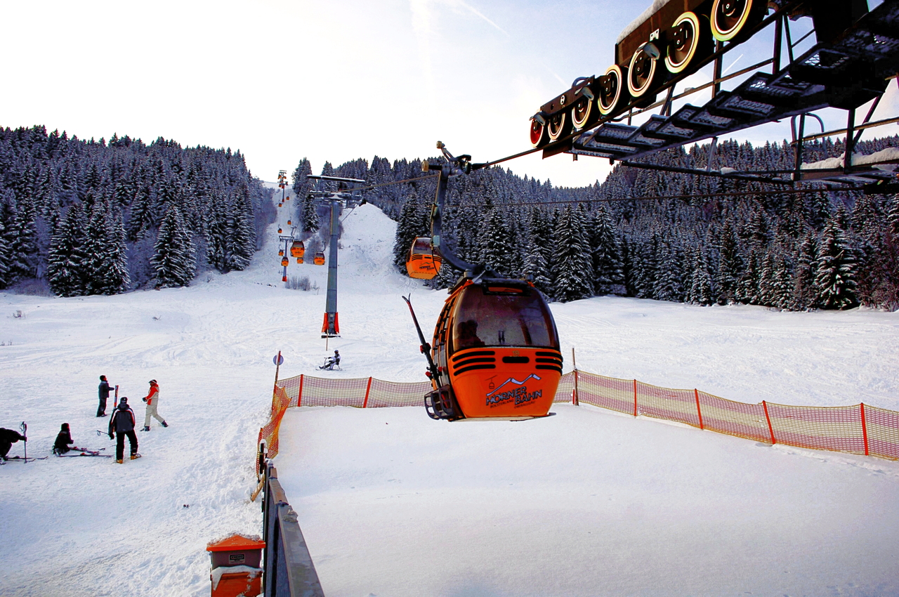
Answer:
[[[29,456],[49,454],[60,423],[78,445],[113,450],[94,432],[105,429],[93,416],[101,374],[138,424],[158,379],[170,423],[138,433],[135,462],[0,468],[0,594],[209,594],[206,543],[260,532],[248,498],[272,356],[284,355],[282,378],[423,379],[400,295],[412,293],[430,327],[445,293],[392,270],[394,223],[377,208],[344,216],[343,337],[327,352],[327,269],[291,261],[289,274],[319,290],[283,289],[277,224],[247,271],[206,273],[190,288],[0,294],[0,426],[29,424]],[[602,375],[744,402],[899,410],[899,314],[631,298],[552,307],[565,370],[574,346],[578,367]],[[343,371],[316,372],[334,348]],[[325,594],[899,594],[899,464],[590,406],[553,411],[524,423],[289,411],[276,465]]]

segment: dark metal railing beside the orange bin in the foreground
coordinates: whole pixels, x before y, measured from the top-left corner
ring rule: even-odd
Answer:
[[[278,482],[278,472],[270,462],[264,470],[263,532],[265,597],[325,597],[318,582],[297,512],[287,501]]]

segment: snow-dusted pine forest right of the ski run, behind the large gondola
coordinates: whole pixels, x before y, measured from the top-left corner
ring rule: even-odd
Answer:
[[[862,141],[857,153],[886,147],[899,147],[899,137]],[[804,159],[842,152],[841,140],[825,138],[806,145]],[[708,153],[708,145],[680,148],[651,162],[705,168]],[[793,164],[786,141],[764,147],[726,141],[710,167],[777,172]],[[310,186],[307,174],[312,172],[304,159],[293,173],[299,197]],[[322,174],[372,184],[422,175],[421,160],[391,165],[378,156],[370,165],[364,159],[336,168],[325,164]],[[751,194],[789,189],[626,166],[603,183],[556,188],[494,167],[453,179],[444,221],[464,259],[501,274],[530,273],[547,296],[561,301],[618,294],[791,310],[899,307],[899,197],[824,190]],[[398,222],[395,263],[401,271],[414,237],[430,234],[433,192],[432,180],[366,192]],[[697,197],[725,192],[744,194]],[[687,197],[643,199],[672,196]],[[307,230],[317,225],[308,205],[298,206],[296,216],[309,223]],[[432,286],[446,287],[457,276],[445,266]]]

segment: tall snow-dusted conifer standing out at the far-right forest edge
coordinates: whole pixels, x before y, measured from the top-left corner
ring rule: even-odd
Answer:
[[[858,306],[855,257],[835,217],[824,225],[817,262],[814,275],[816,305],[825,309]]]

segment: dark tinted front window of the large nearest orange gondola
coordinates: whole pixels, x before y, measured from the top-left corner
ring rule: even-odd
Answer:
[[[453,325],[453,351],[481,346],[558,348],[556,325],[536,290],[490,292],[477,285],[462,292]]]

